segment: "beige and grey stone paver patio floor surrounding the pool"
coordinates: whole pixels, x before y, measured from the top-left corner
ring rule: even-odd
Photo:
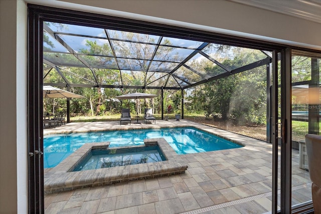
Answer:
[[[69,123],[44,134],[112,129],[194,126],[237,140],[245,147],[180,155],[185,174],[87,187],[45,195],[46,213],[266,213],[271,210],[272,145],[194,123],[157,120],[156,124]],[[292,158],[292,204],[311,199],[308,172]],[[46,172],[50,169],[45,170]]]

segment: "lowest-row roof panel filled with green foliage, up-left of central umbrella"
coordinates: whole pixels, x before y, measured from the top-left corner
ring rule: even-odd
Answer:
[[[95,69],[97,81],[102,85],[121,85],[119,70]]]

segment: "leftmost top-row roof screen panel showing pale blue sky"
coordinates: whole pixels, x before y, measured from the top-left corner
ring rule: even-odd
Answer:
[[[84,36],[107,38],[104,32],[104,29],[100,29],[100,28],[91,28],[91,27],[85,27],[85,26],[50,23],[50,22],[45,22],[45,25],[47,25],[55,33],[67,33],[67,34],[77,34],[77,35],[84,35]]]

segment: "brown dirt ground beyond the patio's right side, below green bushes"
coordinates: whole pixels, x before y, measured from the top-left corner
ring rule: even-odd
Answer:
[[[255,139],[266,141],[266,126],[236,126],[226,121],[215,121],[213,119],[206,119],[205,117],[189,117],[185,119],[192,120],[198,123],[209,125],[215,128],[231,131],[234,133],[253,137]]]

